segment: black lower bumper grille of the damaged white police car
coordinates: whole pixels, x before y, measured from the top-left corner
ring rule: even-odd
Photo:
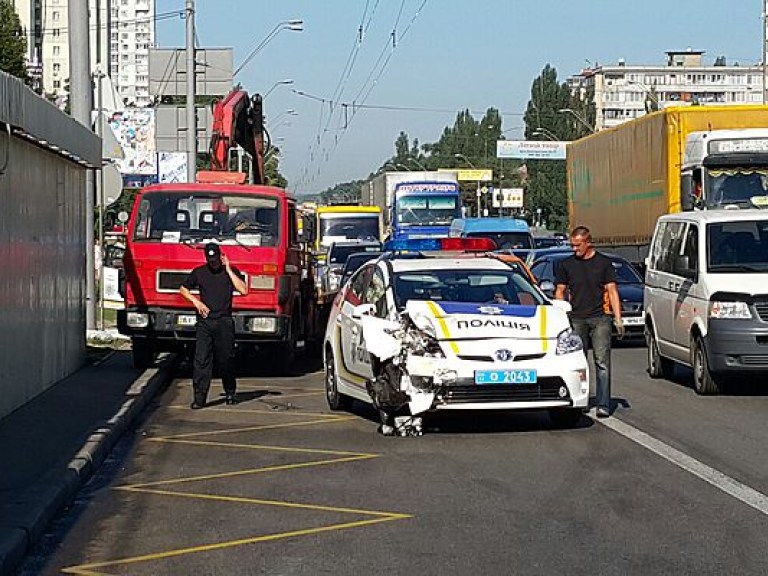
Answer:
[[[468,402],[536,402],[539,400],[568,400],[569,394],[560,397],[562,378],[539,378],[536,384],[486,384],[483,386],[447,386],[439,395],[442,404]],[[567,390],[567,387],[566,387]]]

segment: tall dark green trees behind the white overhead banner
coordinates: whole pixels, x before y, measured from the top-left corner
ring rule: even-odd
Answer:
[[[528,140],[576,140],[592,132],[594,94],[571,94],[568,85],[558,81],[557,70],[547,64],[531,85],[531,99],[523,119]],[[533,214],[541,209],[541,219],[549,228],[565,229],[568,225],[565,161],[532,160],[526,166],[529,174],[526,210]]]

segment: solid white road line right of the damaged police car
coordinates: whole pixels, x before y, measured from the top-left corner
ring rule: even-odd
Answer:
[[[603,426],[610,428],[614,432],[621,434],[625,438],[628,438],[629,440],[640,444],[640,446],[647,448],[654,454],[661,456],[669,462],[672,462],[672,464],[675,464],[683,470],[690,472],[694,476],[701,478],[705,482],[710,483],[715,488],[718,488],[726,494],[730,494],[734,498],[741,500],[747,506],[751,506],[758,512],[762,512],[768,516],[768,496],[762,492],[758,492],[754,488],[750,488],[746,484],[742,484],[735,478],[731,478],[727,474],[723,474],[711,466],[707,466],[703,462],[688,456],[677,448],[673,448],[669,444],[665,444],[661,440],[657,440],[653,436],[650,436],[617,418],[595,420],[600,422],[600,424]]]

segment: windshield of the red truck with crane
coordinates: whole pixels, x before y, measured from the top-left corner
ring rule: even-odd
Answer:
[[[133,230],[137,242],[219,240],[247,246],[276,246],[276,198],[209,191],[147,192]]]

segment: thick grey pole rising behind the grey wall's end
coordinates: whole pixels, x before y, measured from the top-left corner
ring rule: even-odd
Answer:
[[[69,101],[72,117],[91,129],[93,90],[91,89],[91,57],[88,3],[70,2],[69,17]],[[96,329],[96,274],[93,242],[94,174],[85,177],[85,327]]]

